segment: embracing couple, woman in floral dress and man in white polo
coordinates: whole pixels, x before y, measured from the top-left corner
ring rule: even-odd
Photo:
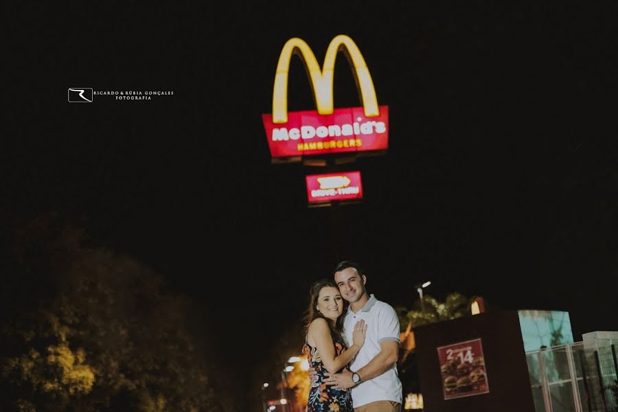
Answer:
[[[350,260],[310,289],[304,353],[311,387],[307,412],[400,412],[399,319],[365,289]],[[344,312],[345,301],[349,304]]]

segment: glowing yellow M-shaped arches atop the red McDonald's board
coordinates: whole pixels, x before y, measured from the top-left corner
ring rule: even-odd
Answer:
[[[288,122],[288,72],[293,54],[299,55],[309,73],[318,113],[321,115],[332,114],[332,76],[336,54],[340,51],[345,52],[350,67],[354,67],[354,80],[356,80],[356,88],[361,95],[365,116],[380,115],[374,82],[371,80],[365,59],[352,38],[344,34],[333,38],[328,49],[326,49],[324,66],[320,69],[315,55],[307,43],[301,38],[293,37],[284,45],[277,63],[275,87],[273,89],[273,123],[283,124]]]

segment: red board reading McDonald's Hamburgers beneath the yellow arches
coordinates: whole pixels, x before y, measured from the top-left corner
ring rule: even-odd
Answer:
[[[336,108],[332,115],[317,111],[288,113],[288,122],[274,124],[262,115],[272,157],[298,157],[324,153],[385,150],[389,146],[389,108],[365,117],[362,107]]]

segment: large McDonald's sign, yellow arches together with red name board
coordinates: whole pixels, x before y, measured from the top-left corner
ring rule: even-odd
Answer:
[[[352,68],[362,107],[334,108],[332,81],[338,52],[344,52]],[[288,112],[288,71],[294,54],[301,58],[308,73],[315,111]],[[286,42],[275,73],[273,113],[262,115],[262,121],[273,159],[388,148],[389,108],[378,106],[365,58],[352,38],[343,34],[328,45],[322,68],[301,38]]]

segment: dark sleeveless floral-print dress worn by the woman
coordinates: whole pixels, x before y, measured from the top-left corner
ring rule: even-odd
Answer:
[[[345,345],[337,339],[334,342],[335,356],[339,356]],[[317,348],[305,343],[303,353],[307,355],[309,365],[314,367],[315,375],[309,389],[307,412],[354,412],[352,408],[352,393],[350,389],[333,389],[322,383],[324,374],[328,372],[317,353]]]

